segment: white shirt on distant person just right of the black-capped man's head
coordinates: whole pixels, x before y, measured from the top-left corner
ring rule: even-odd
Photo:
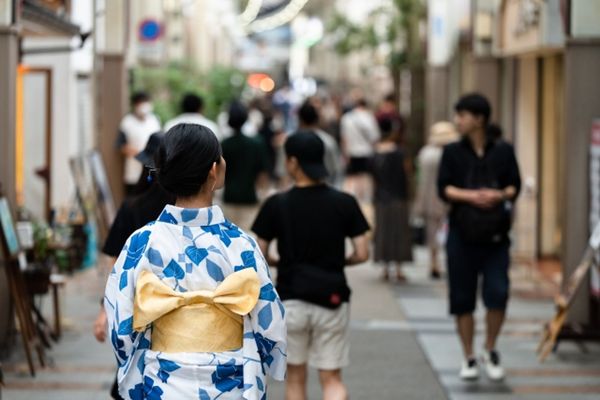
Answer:
[[[370,111],[355,108],[344,114],[341,131],[348,156],[370,157],[373,155],[373,145],[379,140],[380,133],[377,120]]]

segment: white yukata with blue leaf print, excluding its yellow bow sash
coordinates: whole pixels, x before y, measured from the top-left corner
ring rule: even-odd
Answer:
[[[243,346],[220,353],[151,350],[152,328],[133,330],[134,294],[141,271],[175,291],[214,289],[228,275],[253,268],[260,281],[254,309],[243,317]],[[167,205],[157,221],[136,231],[123,248],[104,298],[110,340],[126,399],[266,399],[266,375],[286,371],[284,308],[256,242],[227,221],[217,206]],[[202,335],[202,332],[198,332]]]

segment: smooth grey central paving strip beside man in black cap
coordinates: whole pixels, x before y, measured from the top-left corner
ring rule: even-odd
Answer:
[[[351,399],[438,400],[443,388],[406,323],[393,287],[379,280],[373,266],[348,269],[351,301],[351,365],[344,371]],[[319,399],[318,376],[309,376],[309,399]],[[283,399],[283,385],[270,397]]]

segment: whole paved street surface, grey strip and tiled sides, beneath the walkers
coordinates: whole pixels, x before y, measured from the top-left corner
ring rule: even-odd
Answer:
[[[351,365],[344,372],[356,400],[587,400],[600,398],[600,347],[588,353],[571,343],[545,364],[538,364],[535,346],[540,327],[553,312],[548,296],[536,293],[538,277],[513,268],[513,299],[499,349],[509,371],[506,382],[482,378],[465,384],[457,378],[460,347],[447,315],[443,282],[426,277],[426,257],[417,252],[408,266],[410,282],[385,284],[370,265],[349,270],[353,287]],[[4,362],[7,387],[2,400],[107,399],[114,373],[108,345],[98,344],[91,325],[98,310],[101,280],[95,271],[77,274],[63,292],[65,334],[50,352],[53,366],[35,379],[27,376],[23,356],[15,348]],[[527,294],[524,296],[523,294]],[[49,299],[44,306],[48,307]],[[479,316],[481,321],[481,315]],[[483,326],[478,325],[479,337]],[[480,348],[478,344],[477,348]],[[310,375],[310,399],[319,399],[319,385]],[[272,383],[270,399],[283,399],[283,385]]]

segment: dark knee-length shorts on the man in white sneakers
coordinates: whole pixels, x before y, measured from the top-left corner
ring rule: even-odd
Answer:
[[[456,229],[450,229],[446,243],[450,314],[475,311],[480,275],[485,307],[506,309],[510,290],[509,247],[509,241],[484,245],[464,243]]]

